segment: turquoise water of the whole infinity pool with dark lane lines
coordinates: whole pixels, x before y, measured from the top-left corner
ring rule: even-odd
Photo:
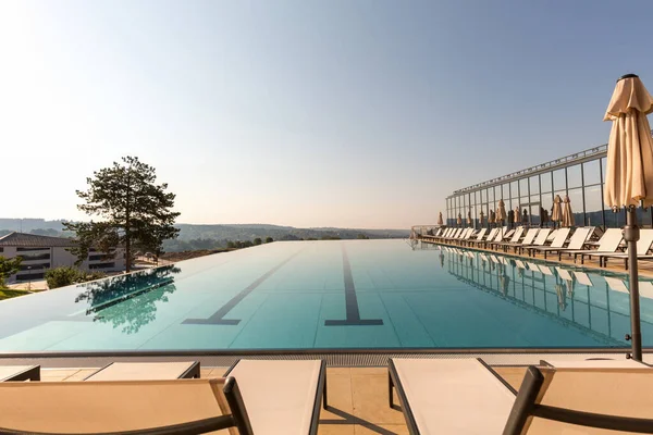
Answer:
[[[0,352],[623,347],[626,279],[406,240],[273,243],[1,301]]]

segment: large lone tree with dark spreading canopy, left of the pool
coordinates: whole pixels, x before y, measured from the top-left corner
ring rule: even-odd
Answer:
[[[71,251],[78,263],[91,247],[102,252],[124,247],[127,272],[134,250],[162,253],[163,240],[178,235],[173,224],[180,213],[171,210],[175,195],[165,191],[168,184],[157,185],[156,179],[155,169],[136,157],[124,157],[86,179],[88,189],[76,191],[85,203],[77,208],[99,220],[64,223],[65,229],[76,234],[78,245]]]

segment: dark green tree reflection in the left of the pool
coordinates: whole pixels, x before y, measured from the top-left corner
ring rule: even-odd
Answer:
[[[113,327],[123,326],[124,333],[136,333],[156,319],[157,303],[168,302],[168,295],[176,290],[173,275],[180,272],[169,265],[82,284],[86,290],[75,302],[88,303],[86,315],[94,315],[94,322],[110,322]]]

